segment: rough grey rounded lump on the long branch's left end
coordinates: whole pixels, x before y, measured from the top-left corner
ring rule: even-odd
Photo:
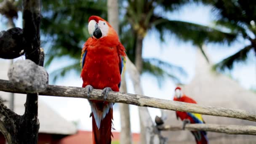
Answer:
[[[8,77],[13,85],[27,93],[42,92],[48,85],[46,70],[29,59],[16,61],[8,70]]]

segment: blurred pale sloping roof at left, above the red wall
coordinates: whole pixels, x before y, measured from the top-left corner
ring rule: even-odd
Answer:
[[[8,80],[7,70],[9,65],[6,61],[0,61],[0,79]],[[9,107],[10,93],[0,91],[0,97],[7,100],[4,104]],[[26,95],[16,93],[14,95],[14,112],[23,115],[25,101]],[[39,133],[71,135],[77,132],[77,128],[72,122],[65,120],[58,113],[54,112],[44,101],[40,100],[40,97],[38,100],[38,119],[40,122]]]

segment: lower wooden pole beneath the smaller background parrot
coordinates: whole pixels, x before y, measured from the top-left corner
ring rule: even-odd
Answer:
[[[182,131],[182,125],[160,125],[161,131]],[[256,126],[252,125],[217,125],[217,124],[187,124],[185,130],[189,131],[212,131],[227,134],[256,135]]]

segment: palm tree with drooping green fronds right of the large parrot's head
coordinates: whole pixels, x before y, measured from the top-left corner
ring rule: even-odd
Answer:
[[[208,26],[193,24],[186,21],[177,21],[167,19],[163,13],[173,12],[181,8],[190,0],[127,0],[128,5],[125,6],[126,12],[123,16],[124,26],[122,32],[129,31],[132,37],[124,35],[126,39],[133,41],[123,41],[126,45],[131,45],[127,49],[127,54],[131,61],[135,63],[136,68],[140,73],[149,71],[154,75],[163,76],[168,75],[173,78],[173,71],[168,73],[164,67],[172,68],[160,59],[143,59],[142,48],[143,40],[150,30],[155,30],[159,33],[159,39],[164,41],[164,34],[171,33],[176,35],[177,38],[183,41],[192,41],[195,45],[199,46],[203,52],[202,45],[206,42],[210,43],[229,43],[233,41],[237,35],[232,33],[222,32],[219,29],[214,29]],[[126,4],[126,3],[125,3]],[[159,12],[160,11],[160,12]],[[128,29],[130,27],[132,30]],[[121,35],[122,36],[122,35]],[[121,39],[122,40],[122,39]],[[203,52],[204,53],[204,52]],[[139,114],[140,116],[143,114]],[[141,118],[141,143],[146,143],[145,128],[143,128]]]

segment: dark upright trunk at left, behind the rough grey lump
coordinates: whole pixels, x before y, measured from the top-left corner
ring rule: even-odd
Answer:
[[[41,0],[23,1],[23,35],[25,39],[25,56],[43,66],[44,55],[40,51],[40,20]],[[40,59],[41,58],[41,59]],[[25,103],[25,113],[22,115],[21,129],[18,139],[23,144],[37,144],[39,120],[38,93],[28,93]],[[23,132],[26,130],[26,132]]]

